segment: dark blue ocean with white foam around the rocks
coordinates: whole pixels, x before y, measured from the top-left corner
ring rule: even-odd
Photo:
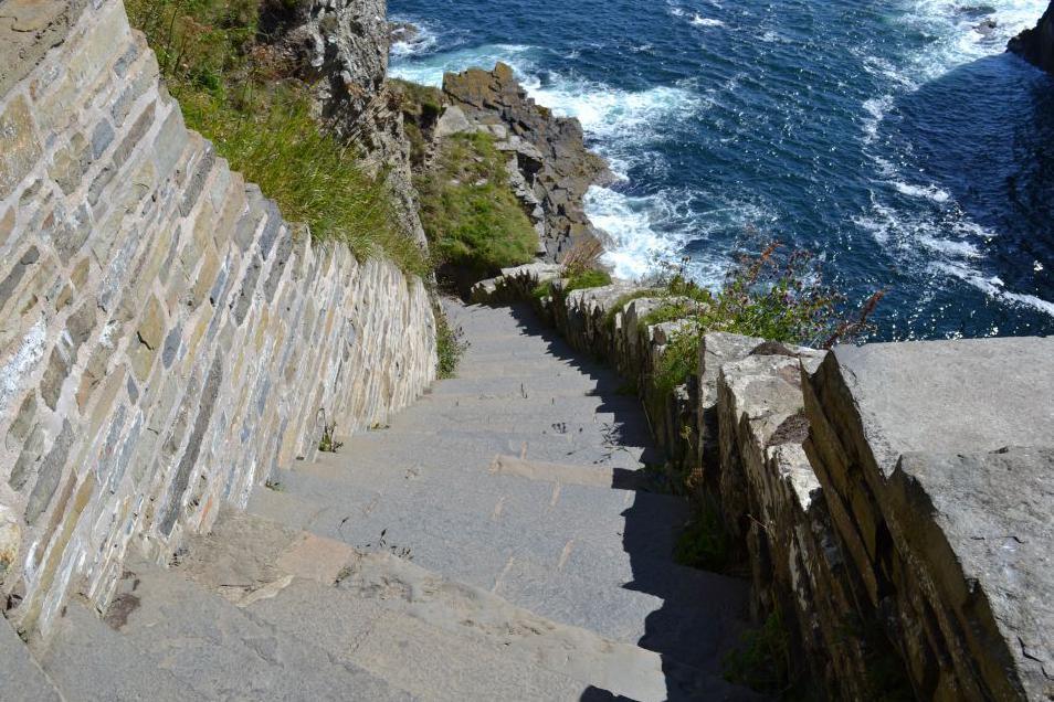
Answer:
[[[1054,78],[1003,52],[1046,0],[390,0],[392,73],[509,63],[622,177],[623,277],[814,252],[879,339],[1054,332]],[[988,29],[981,31],[980,25]],[[994,23],[994,28],[992,28]],[[982,28],[983,29],[983,28]]]

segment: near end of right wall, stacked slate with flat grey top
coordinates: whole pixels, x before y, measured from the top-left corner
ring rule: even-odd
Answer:
[[[807,450],[920,698],[1054,693],[1054,340],[839,348]]]

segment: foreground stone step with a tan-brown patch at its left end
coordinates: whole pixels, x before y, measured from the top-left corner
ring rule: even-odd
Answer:
[[[662,661],[386,553],[221,515],[177,572],[422,699],[666,699]]]

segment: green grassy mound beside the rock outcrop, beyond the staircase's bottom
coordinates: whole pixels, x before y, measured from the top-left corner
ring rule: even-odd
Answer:
[[[421,221],[440,266],[478,280],[534,260],[538,235],[489,135],[444,140],[434,168],[415,182]]]

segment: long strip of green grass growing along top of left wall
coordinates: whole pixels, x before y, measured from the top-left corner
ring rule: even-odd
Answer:
[[[370,176],[352,148],[319,130],[308,87],[257,42],[262,0],[129,0],[188,127],[212,140],[231,168],[306,223],[319,242],[359,258],[387,256],[407,273],[430,269],[396,219],[384,174]]]

